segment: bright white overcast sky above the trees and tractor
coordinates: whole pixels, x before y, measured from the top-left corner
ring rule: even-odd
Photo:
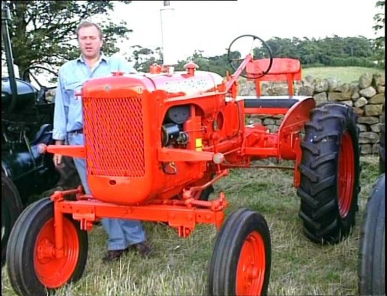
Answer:
[[[242,34],[264,40],[274,36],[318,39],[334,34],[375,38],[373,16],[382,12],[375,3],[376,0],[170,1],[175,9],[179,60],[194,50],[204,50],[207,56],[226,53],[225,48]],[[162,0],[116,3],[112,15],[127,21],[133,30],[129,40],[119,45],[120,54],[136,44],[151,49],[162,45],[162,7]]]

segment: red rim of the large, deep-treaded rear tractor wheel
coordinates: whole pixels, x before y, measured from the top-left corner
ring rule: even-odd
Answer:
[[[346,131],[342,137],[339,154],[339,171],[337,176],[339,211],[342,218],[345,218],[351,209],[354,168],[355,164],[352,138],[349,132]]]

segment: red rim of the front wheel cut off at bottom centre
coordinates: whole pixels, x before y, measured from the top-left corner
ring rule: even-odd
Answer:
[[[236,269],[236,294],[260,295],[265,279],[265,244],[257,231],[243,243]]]

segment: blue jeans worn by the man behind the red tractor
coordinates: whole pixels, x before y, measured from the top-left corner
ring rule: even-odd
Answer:
[[[84,145],[82,133],[68,133],[67,142],[69,145]],[[83,158],[74,158],[82,186],[86,194],[91,194],[87,183],[86,161]],[[145,232],[138,220],[125,219],[102,219],[102,226],[108,233],[108,250],[123,250],[130,245],[145,241]]]

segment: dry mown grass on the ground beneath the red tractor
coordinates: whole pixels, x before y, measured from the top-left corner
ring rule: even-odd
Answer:
[[[378,159],[361,157],[361,193],[356,226],[337,245],[310,242],[298,217],[300,206],[292,171],[236,169],[214,186],[229,200],[226,214],[240,207],[260,211],[268,222],[272,241],[269,295],[357,295],[358,248],[367,198],[378,178]],[[145,222],[154,255],[142,259],[128,253],[104,265],[106,239],[101,226],[89,233],[89,257],[79,282],[57,295],[203,295],[207,264],[216,231],[199,225],[189,238],[178,238],[164,224]],[[6,268],[2,269],[2,295],[15,295]]]

